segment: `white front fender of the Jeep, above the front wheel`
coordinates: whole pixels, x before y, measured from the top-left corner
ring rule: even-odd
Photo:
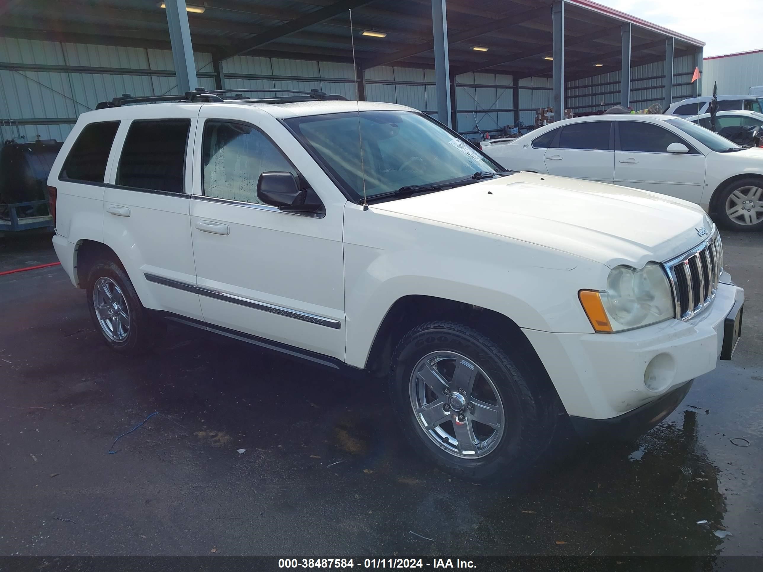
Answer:
[[[604,265],[353,207],[346,210],[344,245],[349,365],[365,367],[388,310],[412,294],[484,307],[526,329],[593,332],[578,291],[604,284]]]

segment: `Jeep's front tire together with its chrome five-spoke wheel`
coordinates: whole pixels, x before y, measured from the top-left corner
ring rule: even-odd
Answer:
[[[512,480],[548,445],[555,414],[532,381],[539,372],[520,370],[475,329],[421,324],[398,343],[392,365],[392,406],[405,435],[443,471],[477,483]]]

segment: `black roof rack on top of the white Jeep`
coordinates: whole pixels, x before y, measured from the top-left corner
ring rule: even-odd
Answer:
[[[297,94],[291,97],[275,98],[247,98],[243,94],[252,92],[267,93],[291,93]],[[227,95],[234,94],[234,95]],[[204,88],[195,88],[191,92],[185,92],[184,95],[139,95],[133,96],[129,93],[123,93],[119,98],[113,98],[111,101],[101,101],[95,106],[96,109],[119,108],[125,104],[134,103],[158,103],[161,101],[204,101],[208,103],[219,103],[221,101],[249,101],[256,103],[295,103],[298,101],[329,100],[346,101],[343,95],[327,95],[317,89],[311,89],[309,92],[295,92],[291,89],[219,89],[208,92]]]

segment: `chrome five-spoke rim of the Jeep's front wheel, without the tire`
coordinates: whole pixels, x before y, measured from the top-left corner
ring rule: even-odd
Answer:
[[[471,359],[456,352],[425,355],[415,365],[409,387],[410,406],[421,428],[451,455],[484,457],[501,442],[501,395]]]

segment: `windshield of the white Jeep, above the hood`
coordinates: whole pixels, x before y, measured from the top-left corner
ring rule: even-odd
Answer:
[[[285,124],[356,200],[363,197],[364,179],[365,196],[373,198],[410,185],[505,172],[436,121],[413,111],[312,115],[286,119]]]

